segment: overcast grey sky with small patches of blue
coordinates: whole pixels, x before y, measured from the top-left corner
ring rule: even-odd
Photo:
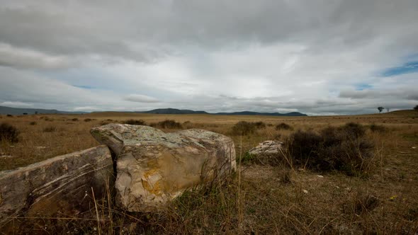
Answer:
[[[417,12],[417,0],[0,0],[0,105],[411,109]]]

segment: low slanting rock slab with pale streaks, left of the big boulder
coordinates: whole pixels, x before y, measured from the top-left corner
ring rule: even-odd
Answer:
[[[0,228],[15,217],[72,217],[112,187],[111,152],[102,145],[0,172]],[[13,226],[16,226],[14,224]]]

